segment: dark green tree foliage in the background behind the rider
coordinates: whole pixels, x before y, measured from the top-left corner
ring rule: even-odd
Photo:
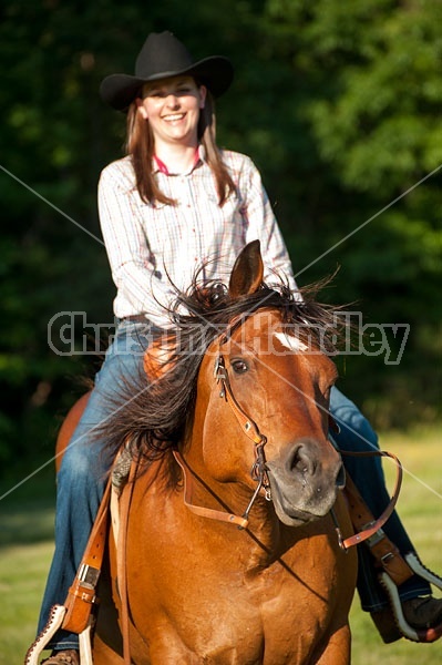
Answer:
[[[113,321],[95,192],[121,155],[124,117],[97,88],[131,72],[152,30],[234,61],[218,140],[261,170],[299,284],[340,265],[329,301],[410,324],[399,365],[338,359],[345,390],[377,424],[436,417],[441,172],[413,187],[442,163],[440,2],[6,0],[0,11],[3,473],[48,457],[81,391],[72,376],[96,366],[56,356],[48,321],[64,310]]]

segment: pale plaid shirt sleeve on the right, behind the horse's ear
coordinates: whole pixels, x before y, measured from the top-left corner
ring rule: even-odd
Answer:
[[[282,234],[264,188],[261,176],[255,164],[247,160],[244,168],[245,182],[240,186],[244,200],[243,215],[246,217],[246,242],[260,241],[264,262],[264,278],[267,283],[288,283],[297,291],[290,257]]]

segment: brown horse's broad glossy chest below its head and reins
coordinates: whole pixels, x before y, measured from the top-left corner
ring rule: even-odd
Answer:
[[[336,553],[325,554],[330,541],[323,523],[310,528],[307,539],[299,529],[297,542],[265,564],[259,539],[230,525],[210,530],[204,521],[205,529],[201,522],[196,529],[188,512],[174,512],[172,503],[172,497],[156,503],[152,494],[130,533],[131,611],[150,645],[148,655],[134,662],[309,663],[342,600],[335,593],[342,571]],[[158,514],[161,528],[153,530]]]

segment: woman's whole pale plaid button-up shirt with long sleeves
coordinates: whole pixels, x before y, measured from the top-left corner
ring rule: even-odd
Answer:
[[[202,154],[201,150],[201,154]],[[260,175],[249,157],[224,151],[236,194],[219,207],[212,171],[204,158],[188,173],[171,175],[155,165],[158,185],[177,204],[146,204],[135,186],[131,157],[106,166],[99,183],[99,211],[117,293],[117,318],[145,314],[161,327],[171,324],[163,306],[198,279],[228,280],[243,247],[259,239],[265,278],[275,273],[296,289],[290,259]]]

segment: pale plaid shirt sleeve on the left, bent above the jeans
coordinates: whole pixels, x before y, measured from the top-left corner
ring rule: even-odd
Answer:
[[[134,313],[145,314],[160,327],[169,327],[166,308],[176,294],[155,276],[140,197],[112,166],[100,177],[99,215],[113,280]]]

